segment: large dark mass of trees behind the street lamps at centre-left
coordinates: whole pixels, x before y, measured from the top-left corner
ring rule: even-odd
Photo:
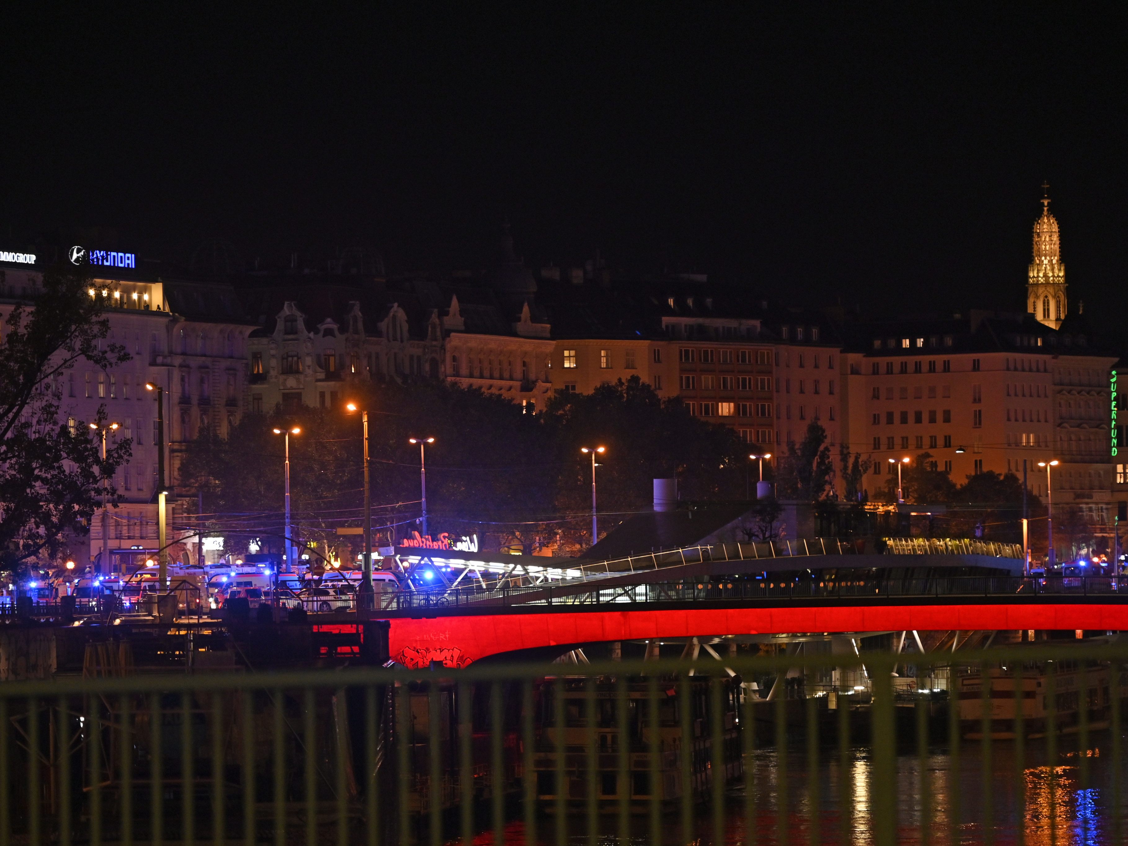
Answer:
[[[447,382],[355,386],[346,398],[369,409],[373,526],[397,537],[420,528],[420,448],[412,437],[435,439],[425,448],[432,535],[492,534],[522,548],[590,543],[591,464],[583,446],[607,448],[598,468],[601,529],[649,509],[655,477],[677,476],[687,497],[743,488],[735,434],[678,400],[663,402],[637,378],[559,396],[537,415]],[[290,441],[294,520],[341,545],[335,528],[363,518],[361,421],[343,406],[247,415],[229,440],[190,444],[179,484],[204,492],[205,512],[281,534],[283,444],[272,430],[283,423],[302,429]]]

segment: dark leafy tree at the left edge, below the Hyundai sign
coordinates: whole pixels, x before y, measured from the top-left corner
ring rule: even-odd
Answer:
[[[106,344],[102,287],[85,267],[56,266],[33,289],[34,306],[17,306],[0,343],[0,571],[17,576],[35,558],[55,557],[70,535],[86,535],[102,483],[131,452],[123,439],[103,461],[89,423],[60,420],[62,377],[85,359],[108,369],[130,355]],[[116,488],[109,484],[109,501]]]

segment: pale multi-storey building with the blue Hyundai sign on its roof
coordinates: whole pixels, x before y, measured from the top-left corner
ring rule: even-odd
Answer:
[[[244,413],[246,338],[254,327],[233,316],[229,289],[164,282],[139,270],[132,254],[108,255],[121,258],[94,266],[90,296],[105,299],[106,342],[124,346],[130,360],[108,370],[80,361],[60,376],[54,393],[68,421],[86,425],[105,406],[107,422],[118,424],[107,442],[132,440],[131,459],[114,478],[117,508],[106,510],[105,521],[96,511],[89,536],[70,549],[77,562],[118,573],[157,552],[157,395],[146,385],[165,389],[166,482],[175,484],[184,444],[202,430],[226,433]],[[41,273],[35,263],[0,266],[0,320],[17,303],[34,307]]]

